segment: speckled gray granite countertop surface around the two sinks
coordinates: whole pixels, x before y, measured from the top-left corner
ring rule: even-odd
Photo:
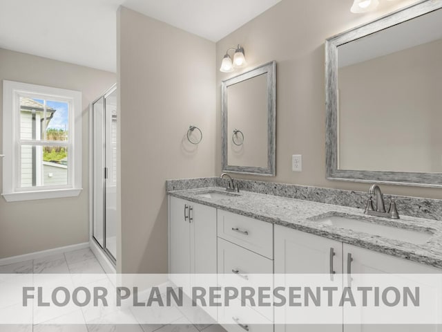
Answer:
[[[208,198],[201,194],[208,192],[226,193],[221,187],[206,187],[191,190],[169,191],[168,194],[194,203],[208,205],[213,208],[226,210],[254,219],[294,228],[303,232],[319,235],[336,241],[343,241],[354,246],[367,248],[376,252],[409,259],[421,264],[442,268],[442,222],[403,216],[401,219],[387,219],[378,216],[367,216],[363,210],[347,208],[340,205],[301,201],[286,197],[254,192],[240,192],[218,195]],[[399,212],[400,213],[400,212]],[[395,239],[387,239],[365,232],[338,228],[336,226],[318,223],[317,219],[323,216],[347,216],[358,220],[368,221],[381,225],[389,225],[405,230],[419,230],[432,234],[427,242],[414,244]]]

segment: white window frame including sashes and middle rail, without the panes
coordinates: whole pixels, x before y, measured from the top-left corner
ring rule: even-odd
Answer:
[[[63,146],[68,149],[68,184],[46,185],[40,187],[19,187],[21,147],[27,140],[21,139],[20,124],[20,96],[57,100],[69,104],[69,139],[63,141],[30,140],[30,145],[46,146],[48,143]],[[6,201],[28,201],[35,199],[56,199],[61,197],[78,196],[81,188],[82,167],[82,135],[81,135],[81,92],[67,89],[53,88],[36,84],[27,84],[3,80],[3,193]]]

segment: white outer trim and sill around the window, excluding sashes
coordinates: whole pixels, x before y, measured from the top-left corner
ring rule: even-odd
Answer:
[[[15,98],[18,93],[38,94],[53,96],[57,99],[69,98],[72,100],[72,114],[69,120],[72,128],[73,163],[72,182],[63,188],[42,187],[41,189],[17,190],[17,172],[15,167],[15,143],[17,139],[17,114],[15,111]],[[13,110],[13,111],[11,111]],[[81,188],[81,92],[52,88],[35,84],[12,82],[3,80],[3,193],[8,202],[29,201],[35,199],[57,199],[61,197],[78,196]]]

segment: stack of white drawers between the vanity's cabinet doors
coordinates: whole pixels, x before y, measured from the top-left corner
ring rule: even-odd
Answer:
[[[273,286],[273,225],[224,210],[218,210],[217,219],[220,286],[240,289],[262,286],[263,282]],[[220,308],[218,318],[229,332],[273,332],[271,306],[252,308],[236,301],[229,308]]]

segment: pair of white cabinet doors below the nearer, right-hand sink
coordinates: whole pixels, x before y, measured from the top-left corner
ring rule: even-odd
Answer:
[[[332,277],[333,271],[337,274],[343,273],[342,279]],[[275,226],[275,273],[322,273],[329,275],[327,286],[337,286],[338,288],[351,286],[356,290],[358,286],[367,286],[366,281],[370,280],[370,274],[392,274],[392,273],[441,273],[441,270],[431,268],[423,264],[416,264],[406,259],[393,257],[372,250],[351,246],[347,243],[334,241],[319,237],[317,235],[300,232]],[[418,282],[419,276],[414,279],[407,275],[407,279]],[[280,280],[278,280],[280,282]],[[340,284],[339,284],[340,283]],[[392,284],[394,286],[394,283]],[[441,299],[434,299],[435,308],[441,307]],[[278,322],[287,321],[286,317],[289,308],[275,311],[275,319]],[[412,326],[403,324],[396,325],[369,325],[369,324],[345,324],[349,315],[364,320],[364,313],[361,311],[336,308],[336,316],[343,317],[342,324],[334,325],[290,325],[276,324],[276,332],[295,331],[340,331],[340,332],[441,332],[441,326],[419,325]],[[436,309],[439,310],[439,309]],[[435,310],[435,315],[437,314]],[[442,311],[441,311],[442,312]]]

